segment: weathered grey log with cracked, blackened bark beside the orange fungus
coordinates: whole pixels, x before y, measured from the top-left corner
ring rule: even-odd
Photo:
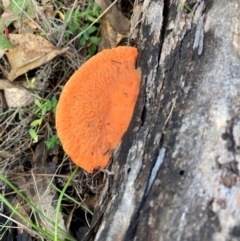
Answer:
[[[141,8],[141,93],[94,240],[240,240],[240,2]]]

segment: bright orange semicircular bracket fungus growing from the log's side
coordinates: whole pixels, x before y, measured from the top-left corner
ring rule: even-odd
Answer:
[[[56,128],[64,151],[87,172],[105,168],[132,119],[140,73],[134,47],[103,50],[84,63],[61,93]]]

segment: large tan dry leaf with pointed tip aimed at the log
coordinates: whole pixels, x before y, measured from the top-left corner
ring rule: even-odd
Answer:
[[[7,74],[10,81],[67,51],[67,48],[57,48],[43,37],[30,33],[9,34],[9,39],[15,46],[6,53],[12,67]]]

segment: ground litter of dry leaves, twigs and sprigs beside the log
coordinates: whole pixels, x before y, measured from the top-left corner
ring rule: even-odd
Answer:
[[[96,2],[103,11],[110,5],[106,0]],[[34,203],[41,214],[36,216],[28,203],[3,180],[2,194],[26,220],[33,220],[49,233],[54,233],[51,222],[55,222],[59,196],[53,187],[61,190],[75,166],[57,142],[54,108],[48,108],[45,103],[54,103],[51,101],[58,99],[72,73],[89,54],[96,52],[100,28],[100,49],[103,49],[126,42],[130,26],[130,16],[122,15],[119,6],[108,9],[100,24],[97,18],[100,11],[93,0],[84,4],[75,0],[68,6],[57,4],[44,0],[5,0],[0,17],[0,173]],[[83,34],[74,39],[79,31]],[[36,105],[36,100],[41,105]],[[63,199],[58,220],[59,228],[75,237],[68,240],[81,240],[88,233],[91,213],[106,180],[106,173],[89,175],[79,171],[71,182],[67,194],[73,200]],[[11,214],[11,210],[9,212]],[[99,216],[96,213],[95,220],[100,217],[101,213]],[[23,240],[37,238],[39,234],[26,220],[12,213],[10,226],[18,227],[18,231],[8,228],[5,233],[15,232]]]

